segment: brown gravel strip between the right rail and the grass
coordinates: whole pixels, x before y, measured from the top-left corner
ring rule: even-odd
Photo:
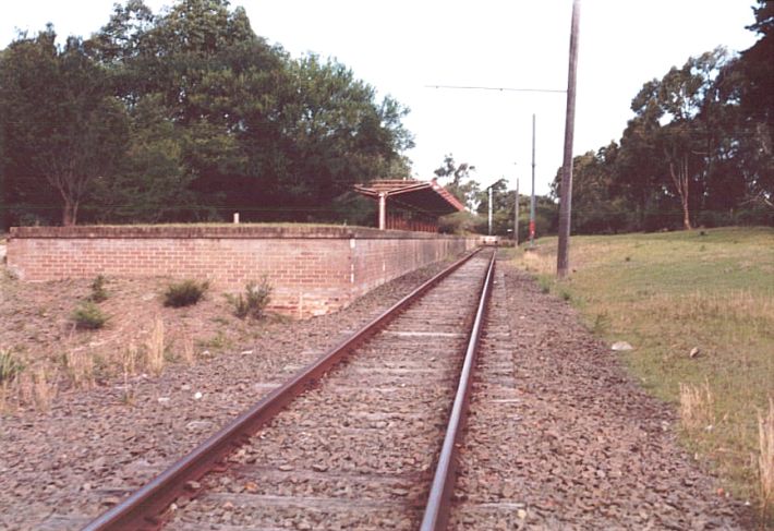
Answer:
[[[751,509],[679,448],[672,409],[567,303],[503,266],[511,336],[488,337],[479,377],[507,350],[513,378],[473,396],[456,529],[750,528]]]

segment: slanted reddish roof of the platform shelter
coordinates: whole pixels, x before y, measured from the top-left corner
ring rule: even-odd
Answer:
[[[436,217],[465,208],[435,179],[432,181],[382,179],[368,184],[355,184],[354,189],[363,195],[375,198],[385,194],[388,200]]]

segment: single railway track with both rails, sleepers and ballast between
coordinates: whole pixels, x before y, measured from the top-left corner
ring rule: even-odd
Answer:
[[[85,529],[445,529],[493,276],[455,264]]]

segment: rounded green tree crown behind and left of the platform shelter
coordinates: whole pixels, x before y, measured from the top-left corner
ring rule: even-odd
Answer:
[[[294,97],[283,106],[283,174],[279,196],[294,204],[328,203],[358,181],[384,177],[398,153],[412,145],[400,125],[404,110],[390,98],[374,102],[374,88],[344,65],[309,56],[290,65]]]

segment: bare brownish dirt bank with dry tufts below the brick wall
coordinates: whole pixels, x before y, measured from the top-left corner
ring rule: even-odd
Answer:
[[[220,354],[251,342],[256,333],[256,327],[243,326],[233,317],[226,301],[219,297],[205,298],[196,306],[185,310],[162,307],[158,293],[168,286],[170,279],[167,277],[111,280],[108,285],[110,297],[100,304],[113,316],[110,326],[81,333],[70,329],[72,302],[87,297],[92,291],[90,279],[31,283],[8,278],[7,271],[0,264],[0,385],[7,384],[5,409],[16,410],[31,403],[16,400],[19,383],[13,381],[12,374],[19,372],[20,364],[26,367],[25,372],[39,364],[58,367],[62,391],[78,391],[81,387],[88,387],[89,379],[95,385],[111,381],[120,384],[124,372],[122,358],[129,342],[134,340],[137,355],[130,375],[160,372],[160,363],[146,364],[146,351],[161,354],[160,348],[147,348],[156,316],[165,324],[165,355],[155,357],[158,361],[164,360],[164,371],[170,363],[183,364],[190,359],[190,351],[183,350],[185,336],[192,336],[193,345],[198,346],[218,334],[217,345],[206,348],[213,354]],[[266,325],[270,326],[274,321]],[[81,353],[69,351],[77,349],[90,352],[93,362],[73,359]],[[170,355],[172,353],[174,355]],[[194,352],[193,363],[199,353],[201,350]],[[77,385],[73,385],[73,381]],[[64,396],[70,397],[69,390],[61,397]]]

